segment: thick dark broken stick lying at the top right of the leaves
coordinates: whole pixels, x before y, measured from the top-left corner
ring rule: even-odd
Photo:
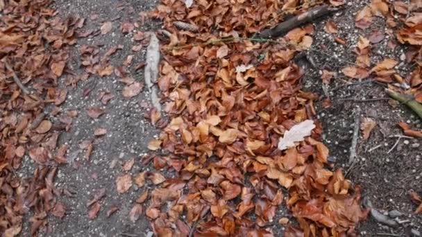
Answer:
[[[303,12],[301,15],[297,15],[296,17],[287,19],[287,21],[283,21],[282,23],[278,24],[274,28],[262,30],[262,32],[256,35],[256,37],[260,37],[260,38],[280,37],[282,35],[287,34],[290,30],[298,26],[307,24],[319,17],[330,15],[333,12],[336,12],[337,10],[339,10],[339,8],[329,8],[328,6],[317,6],[315,8],[311,8],[307,12]]]

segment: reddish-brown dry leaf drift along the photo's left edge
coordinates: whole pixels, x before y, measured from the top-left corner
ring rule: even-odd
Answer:
[[[35,234],[49,213],[65,215],[56,197],[67,192],[54,188],[53,179],[57,166],[66,163],[66,146],[57,148],[66,125],[53,116],[60,116],[57,106],[67,96],[67,89],[58,88],[67,71],[66,49],[76,42],[74,32],[83,21],[63,21],[49,0],[0,2],[0,233],[19,234],[22,216],[31,210]],[[26,154],[38,168],[21,179],[15,170]]]

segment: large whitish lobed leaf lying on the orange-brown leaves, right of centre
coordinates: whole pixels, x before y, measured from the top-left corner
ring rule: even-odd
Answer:
[[[305,120],[294,125],[290,130],[287,130],[280,141],[278,141],[278,149],[286,150],[295,146],[295,142],[303,141],[305,137],[310,136],[312,130],[315,128],[314,121]]]

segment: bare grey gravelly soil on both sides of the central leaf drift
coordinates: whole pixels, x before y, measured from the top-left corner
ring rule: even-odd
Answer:
[[[367,100],[371,98],[386,98],[384,87],[373,81],[356,83],[357,80],[335,76],[326,91],[322,89],[320,78],[321,69],[339,72],[347,65],[346,61],[354,61],[353,47],[359,35],[368,36],[375,27],[385,30],[385,22],[374,24],[369,30],[357,30],[353,26],[354,15],[367,4],[366,1],[351,1],[352,4],[333,17],[319,20],[314,24],[315,35],[313,49],[308,53],[314,59],[316,68],[305,62],[307,73],[303,79],[305,88],[321,96],[317,111],[323,123],[324,142],[330,148],[330,161],[334,167],[346,170],[347,177],[354,184],[362,186],[364,197],[369,198],[374,207],[382,212],[397,210],[403,213],[398,217],[402,221],[398,227],[381,225],[371,217],[362,222],[357,228],[362,236],[412,236],[411,229],[422,231],[422,218],[415,216],[416,205],[407,194],[410,189],[422,193],[422,144],[421,139],[403,138],[397,142],[396,135],[402,134],[397,127],[400,121],[407,121],[416,128],[421,128],[422,122],[404,105],[391,107],[388,100]],[[155,1],[137,0],[58,0],[55,5],[61,15],[78,15],[86,19],[84,30],[99,30],[103,22],[112,21],[113,29],[105,35],[96,35],[79,39],[71,54],[71,68],[76,73],[82,73],[79,49],[85,44],[99,46],[105,52],[117,44],[123,49],[112,55],[112,64],[120,65],[128,55],[135,55],[130,73],[135,80],[143,83],[142,70],[135,71],[134,65],[144,60],[145,47],[134,52],[135,45],[131,40],[134,33],[123,35],[121,24],[126,21],[141,22],[140,12],[146,12],[155,7]],[[98,17],[92,17],[98,15]],[[339,27],[338,35],[346,40],[346,46],[337,44],[332,35],[323,28],[326,21],[332,20]],[[146,19],[144,24],[136,30],[146,32],[160,28],[158,22]],[[387,56],[400,60],[403,46],[392,50],[387,47],[389,40],[394,36],[386,34],[384,40],[375,44],[373,60],[380,60]],[[410,70],[409,65],[399,64],[400,71]],[[339,73],[341,75],[341,73]],[[370,78],[369,78],[370,79]],[[56,178],[56,185],[67,188],[71,197],[62,197],[61,201],[67,207],[66,216],[62,220],[51,216],[49,230],[41,231],[42,236],[151,236],[149,220],[141,216],[137,221],[130,220],[130,209],[133,203],[145,188],[133,185],[130,191],[119,194],[116,191],[116,177],[123,173],[122,166],[126,161],[135,159],[135,165],[130,173],[139,173],[148,170],[142,166],[140,158],[148,152],[147,144],[157,134],[150,122],[145,119],[148,114],[146,104],[149,103],[149,94],[144,89],[141,94],[133,98],[121,96],[123,83],[117,81],[112,74],[104,78],[90,77],[82,80],[75,89],[69,90],[66,102],[61,106],[63,112],[77,110],[79,115],[74,119],[71,130],[60,137],[59,143],[69,146],[69,164],[60,167]],[[90,93],[87,93],[90,91]],[[108,105],[99,100],[102,91],[109,91],[115,96]],[[324,109],[322,102],[326,96],[330,97],[332,107]],[[85,109],[91,106],[100,106],[105,114],[99,119],[91,119]],[[354,125],[354,111],[357,107],[362,110],[361,117],[369,117],[377,125],[367,141],[359,140],[357,146],[357,160],[351,166],[348,164],[349,149]],[[96,128],[105,128],[107,133],[103,137],[95,137]],[[80,144],[85,140],[94,140],[94,150],[90,160],[83,159]],[[26,159],[23,168],[19,170],[25,177],[33,170],[34,164]],[[98,217],[90,220],[88,217],[87,202],[94,198],[95,193],[105,188],[105,197],[99,202],[101,209]],[[107,217],[112,207],[118,211]],[[24,222],[22,236],[28,236],[28,222]],[[275,233],[282,236],[284,227],[273,225]],[[414,236],[417,236],[414,234]],[[419,235],[420,236],[420,235]]]

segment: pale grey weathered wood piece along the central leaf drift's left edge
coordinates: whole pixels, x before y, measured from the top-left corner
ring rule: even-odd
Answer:
[[[151,40],[146,49],[145,83],[151,93],[153,107],[161,112],[160,98],[158,98],[158,87],[155,84],[158,79],[158,64],[160,63],[160,42],[155,33],[151,33]]]

